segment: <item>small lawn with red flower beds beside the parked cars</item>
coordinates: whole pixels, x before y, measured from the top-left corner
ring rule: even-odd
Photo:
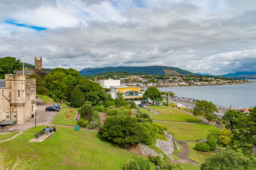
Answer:
[[[52,120],[52,124],[56,125],[77,125],[77,121],[74,120],[76,117],[78,108],[61,108],[61,110],[57,113],[56,117]],[[69,113],[69,111],[73,111],[73,113]],[[70,115],[70,118],[65,118],[67,115]]]

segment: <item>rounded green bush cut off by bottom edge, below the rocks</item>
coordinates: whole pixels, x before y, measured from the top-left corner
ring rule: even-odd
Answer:
[[[133,156],[125,164],[125,170],[148,170],[150,164],[147,159],[143,157]]]

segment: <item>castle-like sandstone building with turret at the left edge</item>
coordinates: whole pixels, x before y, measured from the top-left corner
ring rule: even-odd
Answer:
[[[36,108],[36,79],[29,74],[5,74],[0,80],[0,125],[24,124]]]

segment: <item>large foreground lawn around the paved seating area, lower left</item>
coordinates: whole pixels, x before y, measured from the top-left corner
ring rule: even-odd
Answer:
[[[0,143],[0,148],[8,162],[16,160],[17,155],[20,159],[32,159],[30,164],[35,162],[32,169],[123,169],[134,155],[100,139],[97,132],[75,131],[68,127],[56,129],[58,131],[42,143],[28,142],[33,134],[20,134],[11,141]]]

